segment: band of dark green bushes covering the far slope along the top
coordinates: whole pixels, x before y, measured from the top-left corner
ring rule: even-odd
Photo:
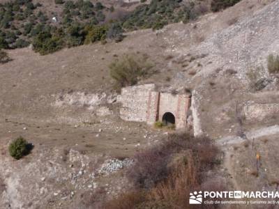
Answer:
[[[213,0],[212,10],[232,6],[240,0]],[[166,24],[194,20],[206,13],[202,1],[151,0],[142,3],[124,19],[106,20],[114,8],[84,0],[55,0],[63,12],[47,15],[42,4],[32,0],[0,3],[0,49],[27,47],[30,43],[40,54],[56,52],[63,47],[75,47],[92,42],[123,40],[123,31],[161,29]],[[52,20],[54,18],[54,20]]]

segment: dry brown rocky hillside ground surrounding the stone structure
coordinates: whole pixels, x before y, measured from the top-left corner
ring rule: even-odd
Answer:
[[[133,155],[156,145],[167,130],[119,119],[121,104],[108,65],[125,53],[146,54],[155,65],[157,73],[141,84],[192,91],[198,133],[222,142],[241,142],[237,136],[243,132],[250,141],[267,137],[257,150],[264,153],[260,175],[267,177],[262,183],[272,189],[278,78],[267,71],[266,56],[278,52],[278,10],[279,1],[243,0],[189,24],[128,33],[119,43],[47,56],[29,48],[10,50],[13,61],[0,65],[0,208],[98,208],[103,199],[128,189],[125,168]],[[262,88],[255,91],[257,82]],[[34,148],[15,161],[7,148],[20,135]],[[220,146],[223,171],[234,179],[234,187],[249,183],[262,189],[261,181],[252,183],[253,174],[245,182],[240,178],[243,169],[255,169],[249,167],[255,159],[246,161],[255,147]]]

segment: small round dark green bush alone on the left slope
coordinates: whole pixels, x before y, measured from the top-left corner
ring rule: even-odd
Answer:
[[[29,144],[23,137],[18,137],[8,147],[10,156],[16,160],[20,160],[24,155],[28,155],[31,150],[31,144]]]

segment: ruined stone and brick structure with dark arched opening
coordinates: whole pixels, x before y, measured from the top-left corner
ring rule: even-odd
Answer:
[[[121,89],[117,101],[122,103],[120,116],[125,121],[156,121],[175,123],[176,128],[186,128],[190,95],[156,91],[155,84],[129,86]]]

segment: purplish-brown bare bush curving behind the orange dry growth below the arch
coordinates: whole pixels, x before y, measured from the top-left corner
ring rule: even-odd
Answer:
[[[171,134],[160,146],[150,148],[135,155],[135,165],[128,171],[128,178],[136,187],[151,188],[167,178],[174,153],[190,150],[196,162],[201,164],[199,172],[208,170],[215,163],[217,148],[211,139],[194,138],[190,134]]]

